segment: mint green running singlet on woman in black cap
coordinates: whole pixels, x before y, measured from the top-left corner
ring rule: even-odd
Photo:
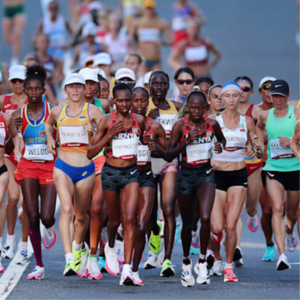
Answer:
[[[274,108],[269,110],[269,115],[266,123],[266,131],[268,134],[268,159],[264,170],[278,171],[278,172],[291,172],[300,170],[300,164],[295,157],[290,146],[280,146],[279,136],[292,138],[296,118],[294,115],[294,107],[288,106],[288,113],[283,118],[276,118],[274,116]]]

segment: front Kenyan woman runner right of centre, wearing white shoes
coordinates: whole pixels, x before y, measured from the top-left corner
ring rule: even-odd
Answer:
[[[210,237],[210,215],[215,197],[215,175],[210,164],[210,157],[214,136],[218,141],[215,143],[215,153],[222,152],[221,143],[225,147],[226,140],[219,123],[203,115],[206,105],[206,97],[200,88],[193,89],[187,97],[189,115],[175,123],[166,155],[168,160],[172,160],[180,153],[182,154],[181,169],[177,180],[177,198],[183,222],[181,284],[184,287],[195,284],[192,275],[192,261],[189,257],[195,201],[198,202],[201,219],[201,252],[198,261],[197,283],[210,283],[205,262]]]

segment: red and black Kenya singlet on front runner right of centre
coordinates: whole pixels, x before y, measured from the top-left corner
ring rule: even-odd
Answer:
[[[186,146],[182,154],[182,159],[191,165],[204,165],[210,162],[211,152],[213,149],[213,138],[215,133],[213,128],[211,127],[208,118],[203,116],[205,122],[205,128],[203,131],[198,131],[198,140],[193,141],[191,144]],[[184,122],[184,132],[180,143],[185,141],[188,136],[189,132],[192,130],[192,126],[189,123],[188,117],[183,118]]]

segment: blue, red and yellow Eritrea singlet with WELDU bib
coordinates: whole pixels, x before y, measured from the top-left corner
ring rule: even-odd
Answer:
[[[23,105],[21,109],[21,133],[23,135],[25,149],[22,159],[32,162],[49,162],[53,161],[54,156],[48,153],[45,143],[47,136],[45,132],[45,122],[51,111],[51,104],[43,102],[43,115],[39,120],[31,120],[28,116],[28,105]],[[56,130],[53,131],[53,138],[56,138]]]

